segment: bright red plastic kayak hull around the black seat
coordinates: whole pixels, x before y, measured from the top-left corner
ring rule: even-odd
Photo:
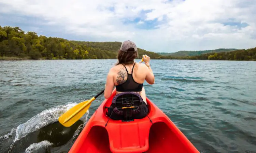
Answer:
[[[114,91],[91,116],[69,153],[199,153],[148,98],[148,117],[130,122],[109,120],[105,107],[111,105],[115,95]]]

